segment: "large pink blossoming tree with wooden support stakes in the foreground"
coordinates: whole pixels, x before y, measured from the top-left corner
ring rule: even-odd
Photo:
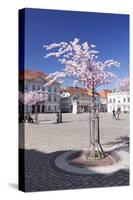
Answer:
[[[104,62],[98,60],[98,51],[95,50],[95,45],[90,45],[88,42],[80,43],[79,39],[69,43],[60,42],[50,45],[44,45],[47,51],[45,58],[55,56],[58,61],[64,66],[61,71],[49,74],[51,81],[62,81],[69,77],[74,82],[81,84],[83,87],[92,91],[92,119],[90,132],[90,151],[95,157],[96,151],[103,156],[103,150],[98,141],[96,131],[96,104],[95,92],[96,88],[110,83],[117,76],[109,70],[111,67],[119,67],[120,63],[113,59]],[[97,150],[96,150],[97,149]]]

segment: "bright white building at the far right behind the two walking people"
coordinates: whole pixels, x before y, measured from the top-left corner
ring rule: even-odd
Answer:
[[[130,94],[129,92],[114,92],[107,94],[107,111],[112,112],[113,109],[121,112],[130,111]]]

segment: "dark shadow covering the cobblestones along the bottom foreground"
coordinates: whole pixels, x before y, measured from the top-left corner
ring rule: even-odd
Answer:
[[[33,192],[129,185],[129,172],[124,170],[108,175],[81,175],[58,169],[54,160],[64,152],[66,151],[46,153],[35,149],[19,149],[19,189]]]

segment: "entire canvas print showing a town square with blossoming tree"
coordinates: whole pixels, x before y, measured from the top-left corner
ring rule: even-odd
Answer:
[[[24,15],[20,190],[129,185],[128,16],[22,9],[21,20]],[[109,37],[99,23],[111,31]],[[44,24],[50,24],[45,31]],[[116,24],[119,28],[113,29]],[[123,26],[127,29],[120,38]]]

